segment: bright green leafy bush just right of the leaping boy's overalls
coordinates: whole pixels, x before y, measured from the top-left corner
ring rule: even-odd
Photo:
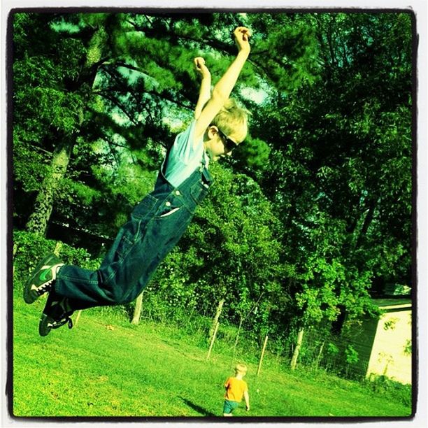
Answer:
[[[178,320],[184,309],[213,317],[226,299],[228,316],[249,317],[257,335],[277,308],[279,225],[257,183],[218,165],[213,173],[211,195],[159,266],[143,306],[152,317]]]

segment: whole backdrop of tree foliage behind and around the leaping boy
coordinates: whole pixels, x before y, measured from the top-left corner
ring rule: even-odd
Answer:
[[[192,116],[192,59],[215,83],[241,24],[254,35],[233,95],[250,136],[212,167],[211,196],[145,299],[178,320],[226,298],[231,320],[285,341],[372,312],[375,281],[411,285],[410,13],[15,11],[14,220],[27,221],[60,143],[71,158],[50,223],[73,232],[59,240],[113,238]]]

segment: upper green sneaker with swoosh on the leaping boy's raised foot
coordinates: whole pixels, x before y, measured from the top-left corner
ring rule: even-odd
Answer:
[[[32,304],[42,294],[52,290],[52,285],[57,278],[57,270],[64,263],[55,254],[47,255],[36,266],[24,287],[24,301]]]

